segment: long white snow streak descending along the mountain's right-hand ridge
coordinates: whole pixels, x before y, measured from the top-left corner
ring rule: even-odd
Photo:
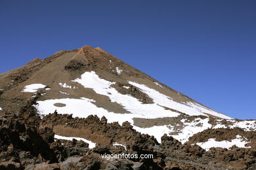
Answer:
[[[151,97],[154,101],[154,103],[157,103],[158,105],[169,107],[171,109],[179,110],[180,112],[184,112],[190,116],[198,116],[203,115],[207,116],[207,114],[204,114],[203,112],[206,112],[208,114],[212,114],[214,116],[219,116],[220,118],[230,118],[228,116],[225,116],[224,114],[220,114],[219,112],[215,112],[210,109],[206,109],[205,107],[202,107],[200,105],[196,105],[193,103],[188,103],[187,105],[184,103],[178,103],[176,101],[173,101],[170,97],[167,95],[164,95],[152,88],[148,88],[148,86],[144,84],[138,84],[136,82],[129,81],[129,84],[132,84],[133,86],[137,86],[142,92],[146,93],[149,97]]]

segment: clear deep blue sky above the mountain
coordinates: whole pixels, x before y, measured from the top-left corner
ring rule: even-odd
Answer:
[[[0,73],[85,44],[256,118],[256,1],[0,1]]]

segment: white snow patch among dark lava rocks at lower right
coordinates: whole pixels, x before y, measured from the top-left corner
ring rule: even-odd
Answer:
[[[215,139],[211,138],[211,139],[208,139],[208,141],[205,143],[196,143],[196,144],[198,144],[205,150],[209,150],[209,148],[211,148],[211,147],[230,148],[233,145],[236,145],[240,148],[250,148],[251,146],[249,146],[249,147],[245,146],[245,144],[247,144],[247,143],[248,142],[246,142],[246,141],[242,141],[242,136],[236,135],[236,139],[232,139],[231,142],[230,141],[215,141]]]

